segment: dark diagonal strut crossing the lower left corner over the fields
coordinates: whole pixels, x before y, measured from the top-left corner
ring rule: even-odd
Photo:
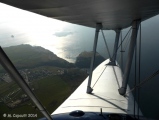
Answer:
[[[30,97],[30,99],[34,102],[34,104],[38,107],[40,112],[48,119],[52,120],[51,115],[46,111],[44,106],[40,103],[37,97],[34,95],[28,84],[19,74],[13,63],[10,61],[8,56],[5,54],[3,49],[0,47],[0,63],[3,68],[8,72],[10,77],[18,83],[18,85],[26,92],[26,94]]]

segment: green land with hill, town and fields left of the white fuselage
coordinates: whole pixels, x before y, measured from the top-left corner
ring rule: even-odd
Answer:
[[[83,69],[42,47],[18,45],[3,48],[29,87],[52,113],[87,77]],[[43,117],[26,93],[7,73],[0,71],[0,120],[7,114],[34,114]],[[30,118],[19,118],[30,119]]]

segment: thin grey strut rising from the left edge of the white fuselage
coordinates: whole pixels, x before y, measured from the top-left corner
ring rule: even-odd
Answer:
[[[100,29],[102,29],[102,24],[97,23],[96,30],[95,30],[94,45],[93,45],[93,55],[92,55],[90,72],[89,72],[89,79],[88,79],[88,85],[87,85],[87,93],[91,93],[93,91],[93,89],[91,88],[91,80],[92,80],[92,72],[93,72],[93,66],[94,66],[96,48],[97,48],[97,42],[98,42],[98,34],[99,34]]]

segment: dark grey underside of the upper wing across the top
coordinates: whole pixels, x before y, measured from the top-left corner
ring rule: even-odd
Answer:
[[[104,29],[126,28],[159,14],[159,0],[0,0],[55,19]]]

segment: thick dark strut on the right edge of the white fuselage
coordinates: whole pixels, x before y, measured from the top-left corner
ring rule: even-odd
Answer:
[[[133,24],[132,24],[132,35],[131,35],[131,41],[130,41],[130,46],[129,46],[128,58],[127,58],[126,66],[125,66],[125,70],[124,70],[122,86],[119,89],[120,95],[125,95],[125,93],[126,93],[126,88],[127,88],[128,78],[129,78],[129,74],[130,74],[134,49],[136,46],[137,33],[138,33],[138,28],[139,28],[140,22],[141,22],[140,20],[135,20],[135,21],[133,21]]]

